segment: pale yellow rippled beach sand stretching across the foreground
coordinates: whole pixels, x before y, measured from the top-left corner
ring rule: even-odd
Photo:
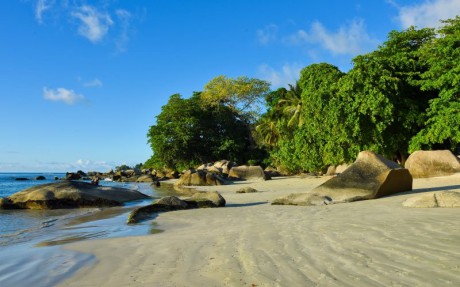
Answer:
[[[460,191],[460,174],[412,194],[324,207],[272,206],[327,178],[209,187],[228,207],[169,212],[163,233],[79,242],[95,266],[61,286],[460,286],[460,209],[405,208],[413,193]],[[264,192],[236,194],[249,185]]]

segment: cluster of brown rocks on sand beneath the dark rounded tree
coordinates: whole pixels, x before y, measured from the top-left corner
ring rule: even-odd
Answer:
[[[238,166],[234,162],[220,160],[204,164],[196,169],[184,171],[175,186],[211,186],[222,185],[233,180],[267,180],[270,172],[261,166]]]

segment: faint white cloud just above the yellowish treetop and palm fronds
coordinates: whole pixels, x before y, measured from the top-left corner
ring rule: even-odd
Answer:
[[[302,65],[284,64],[280,70],[275,70],[267,64],[259,66],[259,75],[262,79],[270,82],[273,87],[287,87],[295,84],[300,76]]]

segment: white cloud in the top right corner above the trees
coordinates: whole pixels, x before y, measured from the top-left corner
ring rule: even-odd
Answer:
[[[429,0],[418,5],[398,6],[398,20],[403,28],[437,28],[440,20],[460,15],[460,0]]]

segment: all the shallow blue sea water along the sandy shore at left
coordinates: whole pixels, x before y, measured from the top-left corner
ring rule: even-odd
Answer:
[[[33,185],[54,182],[33,180],[41,174],[0,173],[0,196],[8,196]],[[16,181],[15,177],[30,180]],[[174,194],[148,183],[100,182],[138,190],[153,198]],[[152,199],[124,206],[60,210],[0,210],[0,286],[53,286],[80,268],[95,263],[90,254],[63,250],[63,244],[98,238],[147,235],[161,232],[152,221],[126,224],[128,213]]]

